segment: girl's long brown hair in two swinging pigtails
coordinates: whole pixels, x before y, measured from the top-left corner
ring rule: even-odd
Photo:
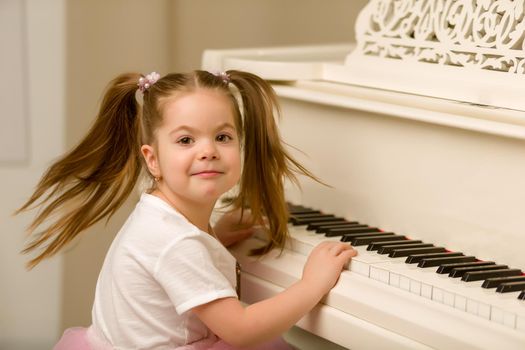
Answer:
[[[53,256],[101,219],[109,220],[133,191],[142,169],[147,169],[140,147],[155,143],[165,103],[197,89],[219,91],[231,100],[243,152],[243,171],[232,206],[250,208],[254,222],[265,222],[269,237],[253,253],[282,248],[288,235],[285,178],[297,185],[295,173],[317,179],[283,147],[275,120],[277,97],[271,86],[256,75],[236,70],[168,74],[145,89],[141,106],[135,97],[141,77],[128,73],[111,81],[88,134],[46,171],[33,195],[17,210],[42,208],[29,234],[51,221],[23,250],[42,248],[28,267]]]

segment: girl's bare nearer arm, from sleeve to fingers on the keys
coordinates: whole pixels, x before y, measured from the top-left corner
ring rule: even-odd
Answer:
[[[356,255],[346,243],[323,242],[310,254],[301,280],[272,298],[244,307],[224,298],[193,309],[227,343],[245,347],[273,339],[307,314],[335,285],[343,266]]]

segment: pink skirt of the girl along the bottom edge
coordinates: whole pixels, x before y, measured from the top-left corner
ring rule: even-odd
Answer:
[[[53,350],[111,350],[113,347],[94,333],[93,328],[73,327],[64,331],[64,334],[53,347]],[[174,350],[240,350],[228,343],[211,337],[195,343],[177,347]],[[283,338],[278,337],[264,344],[243,348],[244,350],[292,350]]]

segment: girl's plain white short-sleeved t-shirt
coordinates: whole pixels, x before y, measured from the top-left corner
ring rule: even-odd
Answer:
[[[142,194],[104,260],[93,326],[116,349],[173,349],[206,338],[191,309],[236,297],[235,263],[213,236]]]

